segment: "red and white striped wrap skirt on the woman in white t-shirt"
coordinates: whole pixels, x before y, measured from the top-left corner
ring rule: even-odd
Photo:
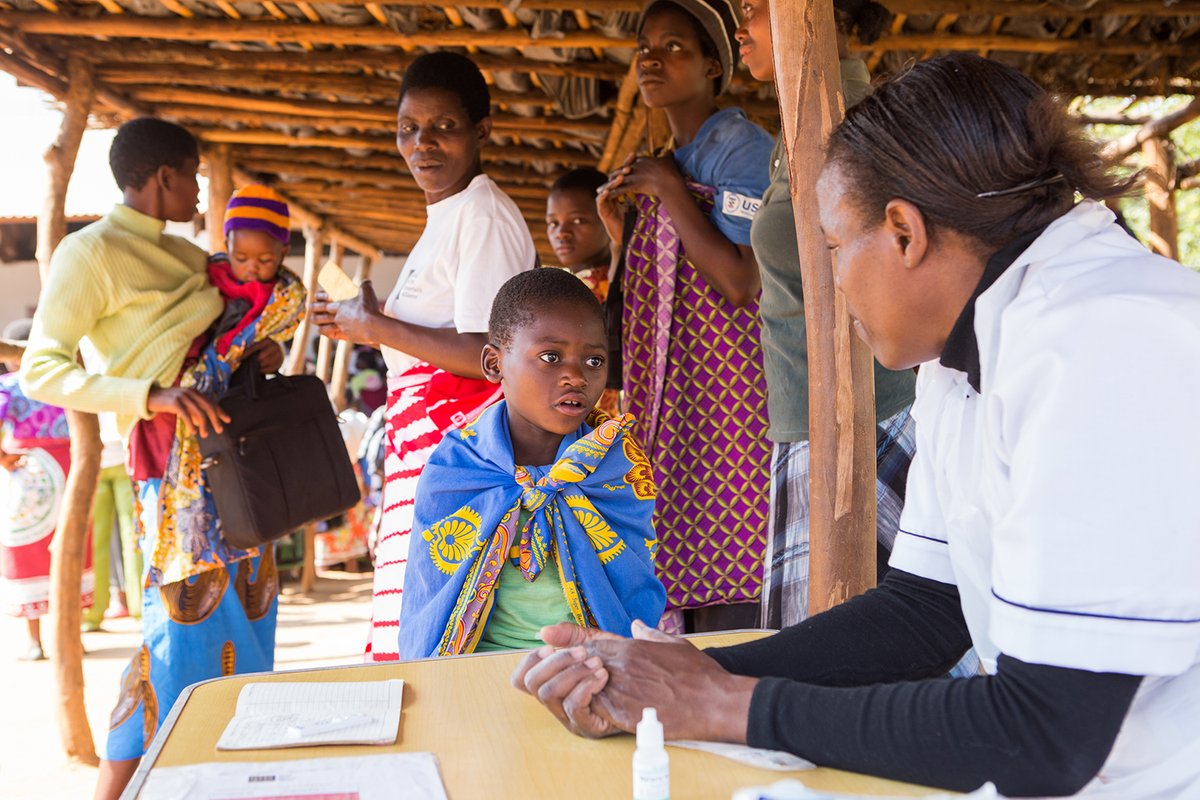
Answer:
[[[366,650],[374,661],[400,657],[413,500],[425,462],[446,433],[467,425],[500,398],[497,384],[461,378],[424,361],[390,378],[388,389],[383,518],[374,552],[374,597]]]

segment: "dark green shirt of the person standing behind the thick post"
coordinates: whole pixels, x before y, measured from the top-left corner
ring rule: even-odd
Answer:
[[[848,103],[870,92],[866,66],[844,59],[842,94]],[[851,103],[853,104],[853,103]],[[796,243],[796,217],[784,157],[782,137],[770,154],[770,186],[750,225],[750,245],[762,278],[760,317],[762,360],[767,374],[767,417],[772,441],[809,438],[809,348],[804,326],[800,254]],[[886,420],[912,403],[916,375],[893,372],[875,363],[875,416]]]

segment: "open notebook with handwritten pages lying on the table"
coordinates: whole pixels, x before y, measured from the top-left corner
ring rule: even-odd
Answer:
[[[404,681],[246,684],[217,750],[390,745]]]

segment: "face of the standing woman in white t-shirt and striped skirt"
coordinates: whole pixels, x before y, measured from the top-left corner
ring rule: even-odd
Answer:
[[[491,118],[472,122],[452,91],[412,89],[404,94],[396,112],[396,148],[426,203],[467,188],[479,172],[479,151],[491,131]]]

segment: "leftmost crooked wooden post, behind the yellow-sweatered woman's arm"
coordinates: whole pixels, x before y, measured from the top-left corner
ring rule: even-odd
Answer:
[[[46,152],[49,191],[37,219],[37,261],[44,284],[50,255],[66,235],[66,196],[74,172],[88,113],[96,98],[90,66],[78,56],[67,59],[67,92],[59,137]],[[53,299],[52,299],[53,301]],[[56,716],[67,758],[97,764],[96,746],[84,706],[82,608],[79,582],[88,548],[91,503],[100,476],[100,423],[94,414],[67,411],[71,433],[71,469],[67,473],[58,528],[50,542],[50,613],[54,620],[50,658],[59,686]],[[108,576],[96,577],[97,581]]]

